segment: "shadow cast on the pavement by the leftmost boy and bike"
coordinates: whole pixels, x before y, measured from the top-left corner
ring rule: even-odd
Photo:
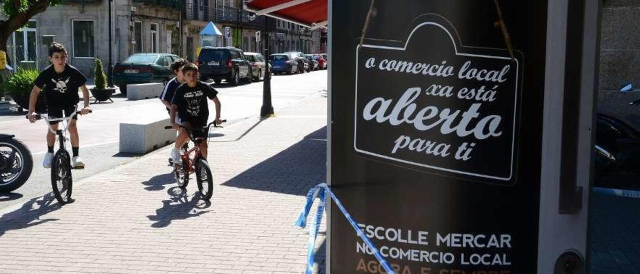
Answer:
[[[0,217],[0,236],[4,232],[15,229],[26,229],[41,223],[57,221],[58,219],[40,219],[43,215],[60,209],[60,204],[54,202],[56,198],[52,193],[42,197],[36,197],[22,204],[22,207]]]

